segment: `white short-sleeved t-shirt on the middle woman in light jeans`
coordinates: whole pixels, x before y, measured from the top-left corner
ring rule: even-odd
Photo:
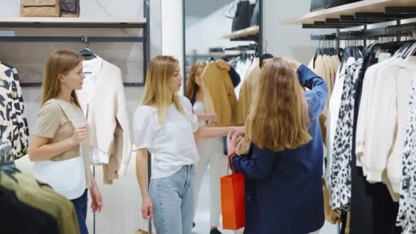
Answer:
[[[156,107],[140,105],[134,113],[135,148],[148,148],[152,154],[151,179],[168,177],[199,160],[194,138],[198,119],[192,113],[188,99],[179,96],[179,103],[185,116],[173,104],[170,105],[163,128],[159,124]]]

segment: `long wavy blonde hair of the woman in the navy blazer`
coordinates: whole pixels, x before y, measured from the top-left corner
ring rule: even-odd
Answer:
[[[250,143],[273,151],[294,149],[309,142],[309,110],[296,71],[275,57],[261,68],[259,86],[246,121],[242,152]]]

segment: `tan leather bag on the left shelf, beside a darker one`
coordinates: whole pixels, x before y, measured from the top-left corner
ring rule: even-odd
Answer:
[[[23,17],[59,17],[59,0],[21,0]]]

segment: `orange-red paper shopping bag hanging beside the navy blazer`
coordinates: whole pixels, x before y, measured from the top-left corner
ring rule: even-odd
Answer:
[[[231,159],[234,156],[235,155],[231,155]],[[230,163],[227,166],[227,175],[221,177],[222,228],[237,230],[241,229],[246,224],[244,175],[235,173],[233,164],[231,164],[233,174],[228,175],[229,166]]]

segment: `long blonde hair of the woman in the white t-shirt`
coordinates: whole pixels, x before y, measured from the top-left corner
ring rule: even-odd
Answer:
[[[148,65],[142,105],[157,107],[157,116],[162,127],[165,124],[166,112],[172,102],[177,110],[185,116],[177,94],[173,92],[173,99],[172,96],[169,96],[169,80],[174,75],[178,64],[178,60],[172,56],[159,55],[153,58]]]

